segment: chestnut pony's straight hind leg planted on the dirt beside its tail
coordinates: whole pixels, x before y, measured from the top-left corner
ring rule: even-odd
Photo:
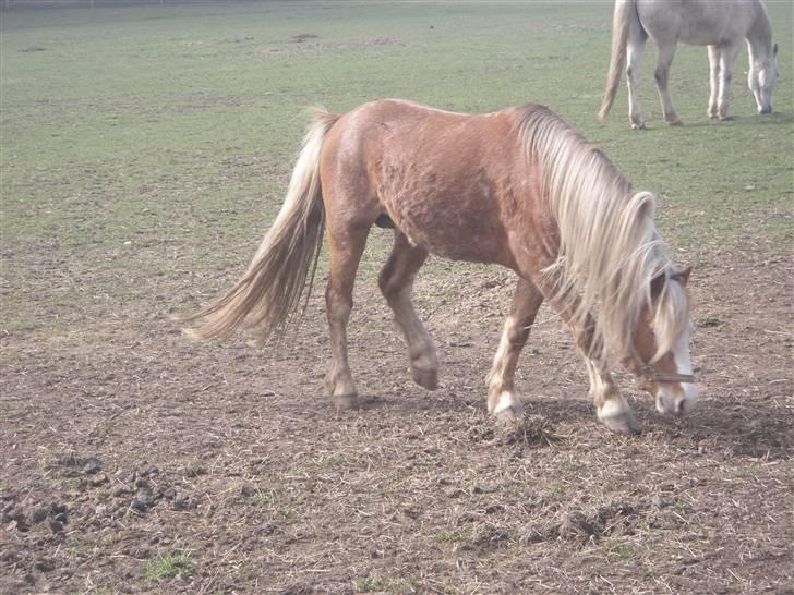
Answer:
[[[341,408],[352,408],[358,403],[356,385],[348,364],[347,324],[353,305],[356,270],[364,252],[368,233],[369,227],[352,230],[328,226],[330,274],[325,291],[325,304],[330,333],[332,363],[325,377],[325,388]]]

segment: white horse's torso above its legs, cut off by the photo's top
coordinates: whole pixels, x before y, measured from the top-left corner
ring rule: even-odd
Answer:
[[[637,1],[640,23],[658,45],[735,44],[747,34],[755,10],[755,0]]]

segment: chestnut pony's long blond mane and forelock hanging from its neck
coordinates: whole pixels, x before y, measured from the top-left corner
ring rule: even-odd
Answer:
[[[542,196],[560,229],[560,253],[546,279],[570,304],[574,324],[593,316],[593,355],[626,356],[642,307],[651,303],[651,281],[675,272],[654,223],[655,198],[633,193],[598,147],[546,108],[525,109],[520,135],[530,162],[540,166]],[[683,286],[665,282],[652,306],[658,359],[688,324]]]

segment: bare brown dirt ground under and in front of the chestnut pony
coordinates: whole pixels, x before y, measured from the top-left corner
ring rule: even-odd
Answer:
[[[278,349],[195,344],[169,321],[191,307],[189,275],[109,304],[75,259],[69,282],[99,314],[2,338],[0,591],[794,593],[792,264],[707,260],[691,280],[702,400],[661,418],[618,374],[645,426],[625,438],[597,423],[545,308],[519,372],[526,418],[486,416],[514,287],[498,269],[420,274],[434,393],[360,283],[364,404],[337,412],[318,298]],[[37,266],[51,292],[67,282],[62,263]]]

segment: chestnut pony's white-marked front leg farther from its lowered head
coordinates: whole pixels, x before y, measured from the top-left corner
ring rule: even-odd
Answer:
[[[505,320],[500,347],[488,375],[488,411],[500,418],[519,417],[524,411],[515,394],[516,364],[542,302],[543,295],[534,284],[519,278],[510,314]]]

